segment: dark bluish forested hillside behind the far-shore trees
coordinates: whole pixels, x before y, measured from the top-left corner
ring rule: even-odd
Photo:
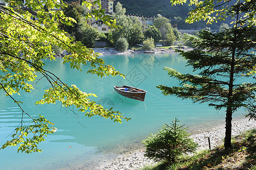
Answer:
[[[120,2],[126,8],[127,15],[140,15],[144,17],[154,17],[157,14],[165,16],[171,20],[171,24],[177,24],[178,29],[202,29],[211,27],[211,29],[219,29],[220,23],[206,25],[205,22],[198,22],[194,24],[186,24],[184,20],[187,14],[192,10],[191,6],[187,4],[171,6],[170,0],[116,0],[114,5]]]

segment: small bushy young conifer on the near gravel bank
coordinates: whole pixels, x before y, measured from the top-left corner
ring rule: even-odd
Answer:
[[[194,152],[198,144],[189,138],[187,128],[178,124],[175,118],[170,125],[163,125],[160,131],[143,140],[146,150],[145,156],[168,164],[177,162],[182,154]]]

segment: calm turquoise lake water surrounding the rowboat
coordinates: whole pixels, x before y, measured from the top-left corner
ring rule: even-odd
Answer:
[[[32,116],[41,114],[58,129],[50,135],[47,141],[40,144],[42,153],[16,153],[17,147],[0,150],[0,169],[61,169],[87,168],[114,157],[117,150],[127,151],[139,145],[149,133],[154,133],[164,123],[169,124],[177,117],[181,124],[190,126],[190,131],[202,129],[208,125],[224,123],[225,113],[215,111],[207,104],[192,104],[190,100],[163,96],[157,85],[178,86],[179,82],[169,78],[163,66],[172,67],[181,73],[191,73],[190,67],[185,67],[186,61],[176,53],[173,54],[128,54],[103,56],[106,64],[110,64],[125,74],[100,79],[96,75],[70,69],[62,65],[62,59],[46,62],[45,69],[52,71],[67,84],[76,84],[80,90],[95,93],[94,101],[106,108],[113,107],[124,116],[132,118],[123,124],[114,123],[101,117],[85,117],[83,113],[71,113],[61,104],[35,105],[40,100],[49,84],[41,80],[31,94],[15,95],[23,101],[23,109]],[[129,86],[147,91],[145,101],[125,98],[116,94],[113,86]],[[240,117],[242,111],[234,113]],[[0,145],[10,140],[9,135],[20,122],[21,111],[14,102],[0,94]],[[30,121],[26,118],[25,121]]]

